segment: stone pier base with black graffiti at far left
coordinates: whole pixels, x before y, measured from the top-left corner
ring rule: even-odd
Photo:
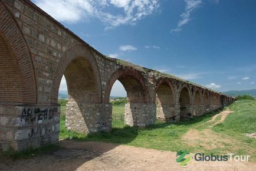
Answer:
[[[60,106],[0,106],[0,151],[58,143]]]

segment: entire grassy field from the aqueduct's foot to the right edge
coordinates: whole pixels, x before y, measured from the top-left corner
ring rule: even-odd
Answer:
[[[214,126],[208,121],[219,111],[179,123],[160,123],[157,121],[155,125],[146,128],[129,127],[124,124],[123,120],[113,120],[111,133],[94,134],[68,131],[65,129],[65,116],[62,115],[60,138],[72,137],[73,140],[77,141],[101,141],[173,152],[188,150],[192,153],[248,154],[251,156],[251,161],[256,162],[256,139],[245,136],[245,133],[256,132],[256,101],[239,100],[228,108],[234,113],[229,114],[224,123]],[[123,116],[123,112],[124,106],[113,106],[113,115]],[[216,117],[215,121],[220,119],[220,117]],[[202,134],[204,131],[211,131],[214,137],[212,140],[208,139],[208,142],[199,139],[198,144],[193,145],[189,140],[184,139],[190,130],[197,130]],[[217,145],[209,149],[205,146],[207,143]]]

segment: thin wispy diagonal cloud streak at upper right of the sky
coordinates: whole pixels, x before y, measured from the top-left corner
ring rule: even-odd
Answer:
[[[191,13],[201,6],[202,0],[185,0],[185,3],[185,11],[180,15],[181,19],[178,22],[178,26],[170,32],[180,32],[183,25],[188,24],[191,20]]]

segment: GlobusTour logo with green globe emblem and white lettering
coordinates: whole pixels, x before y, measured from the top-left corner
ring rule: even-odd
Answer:
[[[196,153],[193,157],[191,154],[188,153],[188,151],[182,151],[180,150],[176,154],[177,159],[176,162],[179,163],[180,166],[186,166],[188,165],[189,161],[191,159],[195,160],[196,162],[227,162],[229,161],[243,161],[243,162],[248,162],[250,156],[238,156],[235,155],[234,153],[228,153],[226,155],[214,155],[213,153],[211,154],[204,154],[204,153]]]

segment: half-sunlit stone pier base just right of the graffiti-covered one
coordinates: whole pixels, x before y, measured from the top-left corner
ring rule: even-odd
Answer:
[[[67,103],[65,126],[80,133],[111,131],[111,104]]]

